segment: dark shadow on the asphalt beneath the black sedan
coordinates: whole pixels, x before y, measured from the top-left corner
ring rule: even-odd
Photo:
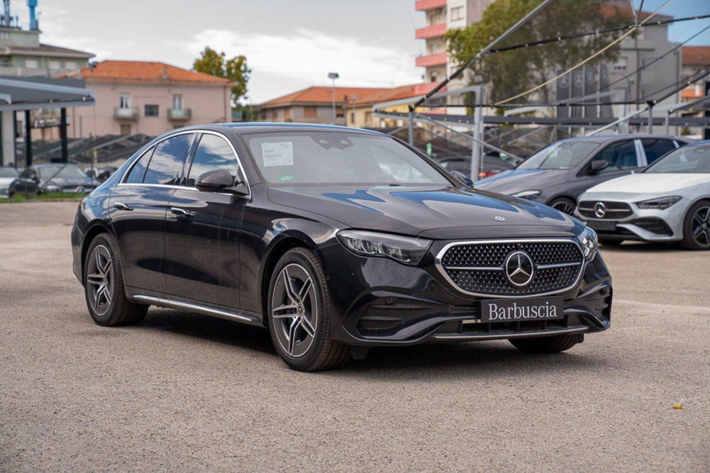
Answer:
[[[212,343],[278,357],[268,330],[220,318],[172,309],[151,310],[137,328],[159,330]],[[376,347],[365,360],[351,360],[344,367],[319,376],[359,379],[442,379],[445,377],[508,377],[530,372],[579,372],[618,367],[612,360],[569,352],[531,355],[506,341],[427,343],[410,347]],[[288,369],[285,368],[284,369]]]

